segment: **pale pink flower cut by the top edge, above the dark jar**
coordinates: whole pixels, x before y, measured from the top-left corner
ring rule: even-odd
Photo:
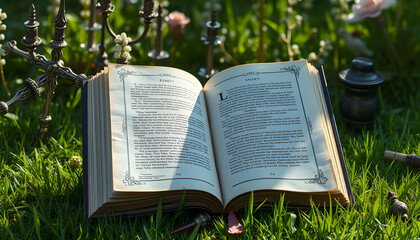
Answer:
[[[360,22],[365,18],[375,18],[384,9],[390,8],[395,4],[395,0],[355,0],[348,15],[348,22]]]

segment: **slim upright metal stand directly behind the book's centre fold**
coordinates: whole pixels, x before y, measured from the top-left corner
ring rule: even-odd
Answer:
[[[218,72],[217,69],[213,68],[214,61],[214,46],[221,43],[220,37],[217,36],[217,30],[220,28],[220,23],[216,21],[216,11],[213,10],[211,21],[207,22],[207,37],[201,37],[204,44],[207,45],[207,66],[206,68],[200,68],[198,75],[209,79]]]

